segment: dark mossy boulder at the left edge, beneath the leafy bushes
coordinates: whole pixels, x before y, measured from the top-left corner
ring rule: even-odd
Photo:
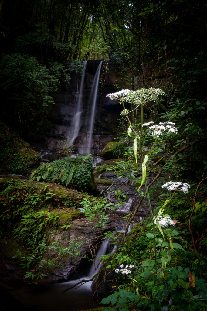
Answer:
[[[29,173],[38,166],[39,154],[15,131],[0,122],[0,170],[16,174]]]

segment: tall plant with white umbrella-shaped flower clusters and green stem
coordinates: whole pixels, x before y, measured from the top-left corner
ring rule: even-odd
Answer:
[[[168,272],[165,273],[167,263],[170,262],[172,255],[174,253],[174,250],[181,249],[184,252],[185,250],[182,248],[182,246],[179,243],[173,242],[173,237],[176,236],[178,233],[177,233],[177,230],[173,230],[171,228],[176,225],[176,221],[173,221],[170,215],[164,214],[164,211],[165,211],[166,206],[173,199],[173,196],[175,195],[176,191],[182,191],[184,194],[186,194],[188,193],[190,189],[190,185],[188,183],[182,183],[180,181],[175,181],[175,182],[170,181],[170,182],[163,184],[162,188],[167,188],[168,191],[173,191],[173,195],[164,202],[159,212],[156,215],[154,215],[152,211],[151,203],[150,203],[150,196],[149,196],[148,184],[147,184],[147,179],[146,179],[146,163],[148,161],[148,155],[153,150],[153,147],[155,146],[158,137],[161,137],[163,135],[170,135],[172,133],[178,132],[178,129],[175,127],[175,123],[173,122],[160,122],[159,124],[155,124],[154,121],[150,121],[148,123],[144,123],[143,121],[143,105],[145,105],[146,103],[150,101],[158,101],[159,98],[163,95],[165,95],[165,93],[161,89],[154,89],[154,88],[150,88],[150,89],[142,88],[137,91],[122,90],[122,91],[107,95],[112,100],[113,99],[119,100],[120,104],[123,105],[123,111],[121,112],[121,115],[125,116],[125,118],[129,122],[129,127],[127,131],[128,135],[131,136],[133,134],[133,136],[135,137],[133,141],[134,155],[135,155],[135,159],[137,162],[137,149],[139,149],[140,160],[141,160],[141,165],[142,165],[142,178],[141,178],[140,186],[137,189],[137,191],[139,191],[142,185],[145,184],[145,194],[146,194],[145,196],[147,197],[147,202],[148,202],[148,206],[150,209],[150,215],[152,218],[152,226],[153,226],[152,232],[148,232],[146,236],[148,238],[153,239],[154,260],[147,259],[142,263],[142,267],[147,267],[146,275],[148,276],[150,274],[154,275],[154,280],[152,284],[150,285],[151,291],[148,290],[147,292],[143,293],[140,290],[138,282],[134,278],[131,277],[132,270],[128,269],[128,267],[131,268],[132,266],[129,265],[123,268],[123,265],[121,265],[119,266],[119,268],[115,270],[116,273],[127,274],[129,278],[131,279],[131,281],[133,282],[133,285],[136,286],[136,292],[138,295],[138,299],[134,301],[132,304],[128,305],[126,310],[129,310],[132,306],[137,304],[137,306],[143,306],[144,307],[143,309],[147,308],[147,306],[150,306],[151,311],[153,310],[161,310],[161,311],[166,310],[167,311],[169,310],[169,308],[173,308],[173,304],[178,299],[181,299],[182,288],[183,290],[186,290],[185,295],[182,296],[182,298],[184,299],[183,300],[184,304],[186,304],[186,299],[188,300],[192,299],[191,291],[187,290],[189,286],[188,283],[182,280],[182,277],[184,277],[184,272],[182,274],[182,277],[181,277],[181,274],[179,274],[179,272],[182,271],[181,267],[180,268],[178,267],[178,269],[176,268],[174,269],[172,280],[169,278],[170,270],[168,269]],[[133,110],[140,107],[140,112],[141,112],[140,132],[137,132],[136,128],[133,127],[130,121],[130,117],[129,117],[129,113],[132,112],[133,110],[129,111],[128,109],[126,109],[125,102],[133,104],[132,105],[134,107]],[[142,142],[143,142],[142,134],[146,127],[149,128],[152,135],[154,136],[154,143],[150,151],[146,155],[144,155],[143,148],[142,148]],[[122,244],[125,243],[128,227],[129,225],[127,224],[126,232],[122,239]],[[157,238],[158,236],[156,232],[157,230],[159,230],[162,236],[161,239]],[[158,260],[158,249],[160,250],[159,255],[161,254],[159,256],[159,260]],[[185,275],[187,275],[188,272],[189,271],[186,270]],[[164,285],[160,285],[160,280],[163,280]],[[180,289],[181,289],[180,291],[178,290],[178,286],[180,286]],[[117,294],[117,297],[118,295],[120,295],[120,297],[122,297],[122,300],[123,300],[124,293],[119,292],[119,294]],[[126,297],[128,297],[127,294],[126,294]],[[131,297],[131,301],[133,301],[132,297]],[[140,301],[145,301],[145,302],[140,304]],[[102,303],[109,303],[109,300],[103,299]],[[189,308],[189,303],[185,305],[184,309],[188,310],[188,308]],[[117,308],[114,308],[114,309],[109,308],[109,309],[111,311],[117,310]],[[121,308],[120,310],[122,309],[123,308]]]

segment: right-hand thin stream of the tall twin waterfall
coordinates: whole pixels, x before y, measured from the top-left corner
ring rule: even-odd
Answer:
[[[91,149],[92,133],[93,133],[94,117],[95,117],[95,107],[96,107],[96,101],[97,101],[97,93],[98,93],[98,88],[99,88],[99,76],[100,76],[102,63],[103,61],[100,62],[99,67],[96,70],[96,74],[94,77],[94,81],[93,81],[93,85],[92,85],[91,93],[90,93],[89,108],[88,108],[88,114],[90,114],[90,123],[89,123],[90,129],[89,129],[89,137],[88,137],[88,143],[87,143],[87,148],[86,148],[86,154],[90,153],[90,149]],[[92,102],[92,106],[90,107],[91,102]]]

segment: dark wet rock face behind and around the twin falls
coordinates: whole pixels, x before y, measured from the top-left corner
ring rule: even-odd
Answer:
[[[85,80],[83,85],[83,108],[81,110],[81,125],[79,134],[73,141],[74,150],[80,154],[85,154],[89,142],[89,123],[91,110],[88,109],[90,102],[90,92],[92,89],[94,75],[99,66],[100,60],[88,61],[85,69]],[[103,67],[103,65],[102,65]],[[116,81],[115,67],[108,64],[109,72],[107,77],[102,72],[103,86],[99,83],[99,91],[97,94],[97,104],[95,108],[95,119],[93,127],[93,135],[91,142],[91,153],[97,154],[104,149],[108,142],[113,140],[111,133],[116,130],[119,123],[121,106],[116,101],[111,101],[106,95],[114,90],[113,83]],[[44,129],[45,144],[48,149],[60,149],[61,141],[65,141],[71,135],[71,127],[73,125],[74,113],[79,98],[79,90],[81,84],[81,75],[76,72],[71,73],[69,85],[64,84],[64,91],[57,93],[54,97],[56,104],[48,109],[48,120],[52,125]],[[30,140],[35,137],[30,135]]]

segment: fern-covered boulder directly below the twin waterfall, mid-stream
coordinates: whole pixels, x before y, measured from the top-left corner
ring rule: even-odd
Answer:
[[[90,193],[95,189],[92,165],[91,156],[66,157],[40,165],[31,174],[31,179],[48,183],[56,182]]]

